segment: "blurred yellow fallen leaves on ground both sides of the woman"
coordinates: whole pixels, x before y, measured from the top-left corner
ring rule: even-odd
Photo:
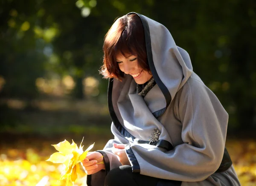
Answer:
[[[59,181],[64,166],[45,161],[54,152],[51,142],[42,144],[40,150],[37,146],[1,147],[0,186],[65,186],[65,180]],[[256,141],[229,140],[226,146],[241,185],[256,185]],[[86,176],[78,177],[74,186],[86,186]]]

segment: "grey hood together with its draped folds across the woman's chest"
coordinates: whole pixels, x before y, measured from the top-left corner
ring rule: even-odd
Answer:
[[[177,91],[191,76],[192,64],[189,54],[176,46],[165,26],[144,15],[137,15],[143,23],[148,64],[157,86],[143,100],[136,93],[132,76],[125,75],[122,81],[111,78],[108,108],[116,129],[129,141],[148,143],[148,136],[157,127],[162,131],[160,138],[169,141],[165,143],[169,146],[166,148],[170,148],[171,139],[157,118],[166,111]]]

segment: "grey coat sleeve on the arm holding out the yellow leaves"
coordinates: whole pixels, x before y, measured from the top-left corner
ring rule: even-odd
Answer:
[[[114,139],[110,139],[103,150],[97,151],[103,155],[105,170],[87,175],[87,186],[104,186],[104,180],[108,172],[116,167],[122,166],[116,155],[112,152],[113,143],[128,144],[129,142],[116,130],[113,123],[111,124],[111,131],[114,134]]]

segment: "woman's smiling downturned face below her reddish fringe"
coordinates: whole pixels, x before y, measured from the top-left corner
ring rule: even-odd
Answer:
[[[137,55],[128,55],[127,58],[122,54],[116,56],[119,69],[125,74],[131,75],[137,84],[144,84],[152,78],[152,74],[140,69]]]

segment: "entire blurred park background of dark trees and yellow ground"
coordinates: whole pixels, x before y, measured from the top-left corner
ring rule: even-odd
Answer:
[[[112,138],[105,33],[138,12],[163,23],[229,113],[227,149],[256,185],[255,0],[0,0],[0,185],[62,186],[45,160],[64,139]],[[85,186],[86,177],[75,185]]]

